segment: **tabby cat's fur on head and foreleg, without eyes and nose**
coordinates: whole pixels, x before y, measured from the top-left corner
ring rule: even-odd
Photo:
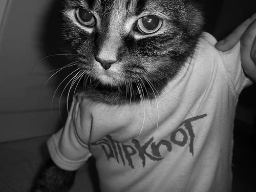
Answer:
[[[92,10],[94,28],[79,24],[74,11],[78,7]],[[159,31],[145,35],[136,29],[136,20],[143,13],[163,20]],[[193,55],[202,25],[201,12],[194,2],[186,0],[63,1],[63,37],[75,52],[85,79],[89,79],[83,91],[93,101],[110,105],[161,94]],[[102,52],[117,58],[105,71],[99,63],[95,65],[95,57]],[[66,191],[74,175],[50,164],[33,190]]]

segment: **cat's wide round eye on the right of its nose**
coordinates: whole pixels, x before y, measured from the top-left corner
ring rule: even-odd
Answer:
[[[137,21],[137,28],[141,33],[151,34],[157,32],[162,26],[162,20],[154,15],[141,17]]]

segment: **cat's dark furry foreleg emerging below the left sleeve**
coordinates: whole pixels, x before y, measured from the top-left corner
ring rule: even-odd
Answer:
[[[66,192],[73,185],[76,171],[63,170],[49,160],[36,179],[32,192]]]

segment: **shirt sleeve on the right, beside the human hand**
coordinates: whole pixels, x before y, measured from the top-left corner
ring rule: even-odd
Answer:
[[[229,84],[233,93],[238,97],[245,87],[252,84],[252,81],[245,76],[241,65],[240,42],[231,50],[221,52],[221,55],[229,77]]]

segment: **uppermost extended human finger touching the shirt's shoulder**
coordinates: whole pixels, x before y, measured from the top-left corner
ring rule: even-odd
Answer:
[[[234,29],[227,37],[217,42],[215,47],[220,51],[228,51],[241,39],[248,27],[256,20],[256,13],[246,19],[241,25]]]

